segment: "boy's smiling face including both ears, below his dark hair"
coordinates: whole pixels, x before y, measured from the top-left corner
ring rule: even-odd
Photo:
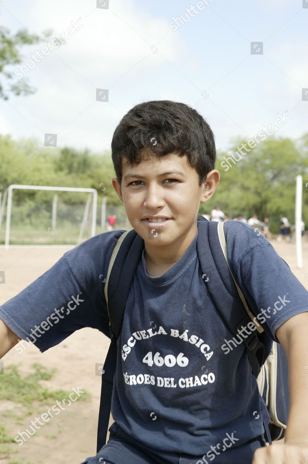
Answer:
[[[176,242],[189,245],[196,234],[200,202],[211,198],[218,182],[219,172],[213,170],[199,187],[198,174],[186,156],[168,154],[158,158],[151,151],[143,153],[138,165],[122,161],[121,185],[116,177],[112,179],[127,218],[145,240],[147,249]],[[153,223],[147,219],[149,216],[166,220]]]

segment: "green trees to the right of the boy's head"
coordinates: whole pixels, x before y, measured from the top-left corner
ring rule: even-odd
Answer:
[[[239,140],[218,154],[216,168],[220,171],[220,185],[214,198],[201,204],[201,214],[219,204],[232,219],[239,213],[248,217],[257,214],[260,220],[270,216],[271,223],[278,224],[279,214],[284,213],[294,223],[295,176],[302,174],[308,179],[308,135],[299,142],[271,137],[248,153],[243,150],[242,155],[237,155],[235,152],[242,142],[245,143]],[[303,212],[303,218],[308,217],[305,199]]]

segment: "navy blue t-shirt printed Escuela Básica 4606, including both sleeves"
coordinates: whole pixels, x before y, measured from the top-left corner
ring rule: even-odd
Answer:
[[[277,340],[283,322],[308,310],[308,292],[250,226],[227,221],[224,229],[233,275]],[[82,327],[108,335],[102,282],[123,232],[102,233],[64,253],[0,307],[0,318],[42,352]],[[112,427],[150,448],[202,456],[227,434],[240,446],[264,430],[244,344],[226,343],[234,335],[202,279],[196,239],[159,277],[148,274],[143,252],[118,340]]]

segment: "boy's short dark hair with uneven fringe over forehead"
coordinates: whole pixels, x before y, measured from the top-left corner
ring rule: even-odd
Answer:
[[[111,142],[113,166],[120,183],[123,157],[130,165],[138,164],[145,148],[150,148],[157,156],[186,155],[199,176],[199,186],[215,168],[212,129],[185,103],[170,100],[144,102],[134,106],[121,119]]]

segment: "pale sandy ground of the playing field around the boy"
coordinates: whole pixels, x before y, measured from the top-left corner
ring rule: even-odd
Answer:
[[[296,266],[295,244],[277,243],[271,241],[277,253],[289,264],[292,272],[308,290],[308,241],[303,242],[303,267]],[[0,285],[0,304],[6,302],[23,290],[28,284],[49,269],[68,248],[12,248],[4,250],[0,248],[0,271],[5,271],[5,284]],[[72,387],[82,385],[92,395],[91,402],[73,403],[57,417],[51,419],[22,446],[13,444],[17,454],[10,458],[20,458],[20,463],[28,461],[35,464],[79,464],[86,457],[96,454],[96,432],[101,392],[101,378],[95,375],[95,363],[103,362],[107,354],[109,340],[105,335],[95,329],[81,329],[70,335],[66,340],[44,354],[38,348],[31,345],[22,354],[14,348],[1,360],[4,367],[9,364],[18,364],[21,372],[26,373],[31,364],[38,362],[48,368],[57,368],[57,373],[44,381],[50,389],[63,388],[70,390]],[[59,398],[59,400],[61,400]],[[50,403],[52,406],[54,402]],[[0,413],[12,404],[4,402],[0,406]],[[13,407],[18,407],[13,404]],[[40,415],[47,411],[43,407],[38,411]],[[21,424],[16,424],[12,419],[3,419],[10,434],[14,437],[17,431],[25,430],[33,417],[28,417]],[[54,437],[54,438],[51,438]],[[7,464],[10,458],[0,456],[3,464]],[[23,459],[24,458],[24,459]]]

